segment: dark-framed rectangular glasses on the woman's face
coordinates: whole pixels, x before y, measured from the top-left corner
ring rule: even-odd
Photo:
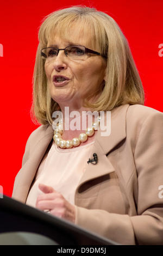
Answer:
[[[87,58],[86,53],[93,53],[106,58],[106,56],[103,56],[101,53],[80,45],[67,46],[64,49],[46,47],[41,50],[41,58],[51,60],[58,56],[59,51],[65,51],[65,55],[72,60],[85,60]]]

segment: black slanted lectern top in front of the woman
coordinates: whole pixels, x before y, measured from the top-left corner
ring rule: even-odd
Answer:
[[[17,232],[41,235],[54,245],[117,245],[77,225],[3,196],[0,198],[0,242],[1,236]]]

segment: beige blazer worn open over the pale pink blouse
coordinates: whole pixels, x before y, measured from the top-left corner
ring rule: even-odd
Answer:
[[[13,198],[26,203],[52,138],[49,125],[30,135]],[[76,224],[122,245],[163,245],[163,113],[141,105],[115,108],[111,134],[97,131],[93,153],[98,163],[87,164],[76,190]]]

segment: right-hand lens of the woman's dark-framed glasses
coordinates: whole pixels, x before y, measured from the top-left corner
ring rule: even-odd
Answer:
[[[68,46],[65,48],[65,53],[71,59],[85,59],[85,47],[84,46]]]

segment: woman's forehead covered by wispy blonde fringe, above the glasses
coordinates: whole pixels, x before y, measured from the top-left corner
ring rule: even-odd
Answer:
[[[55,27],[48,38],[47,45],[53,46],[57,44],[62,44],[65,47],[68,45],[83,45],[88,48],[96,47],[93,33],[90,33],[90,28],[83,27],[79,23],[73,24],[68,28],[65,26]]]

